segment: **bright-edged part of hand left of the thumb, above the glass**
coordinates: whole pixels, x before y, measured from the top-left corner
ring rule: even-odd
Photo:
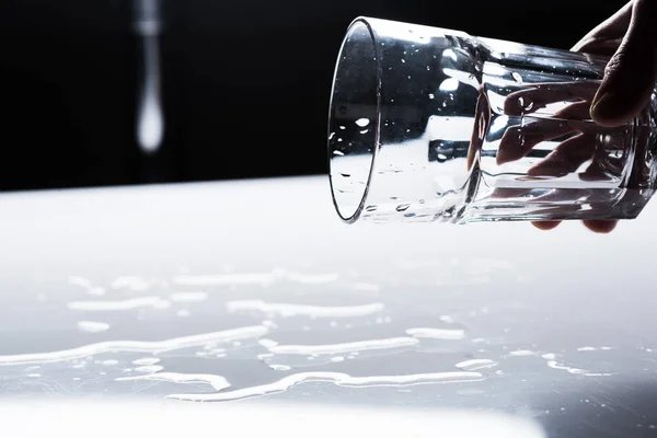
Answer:
[[[616,13],[593,27],[570,50],[587,54],[604,54],[603,49],[612,48],[612,55],[618,49],[622,37],[627,31],[632,19],[633,1],[629,1]],[[615,41],[615,46],[613,42]]]

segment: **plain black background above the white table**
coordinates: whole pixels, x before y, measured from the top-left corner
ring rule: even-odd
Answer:
[[[164,0],[165,138],[135,141],[119,0],[0,2],[0,191],[327,172],[333,67],[357,15],[569,48],[623,2]]]

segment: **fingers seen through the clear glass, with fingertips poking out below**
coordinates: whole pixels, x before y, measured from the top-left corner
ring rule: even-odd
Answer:
[[[609,177],[608,171],[621,173],[624,157],[618,154],[619,147],[626,139],[626,127],[606,128],[587,123],[589,107],[598,89],[598,82],[557,82],[537,83],[532,88],[510,93],[504,103],[504,114],[507,116],[529,116],[522,125],[510,126],[504,132],[497,151],[497,165],[520,160],[530,153],[543,141],[558,141],[554,150],[544,159],[529,168],[527,178],[557,178],[577,172],[578,169],[589,163],[584,171],[578,172],[583,181],[604,181]],[[562,110],[550,113],[550,118],[531,117],[542,113],[554,103],[572,102]],[[615,152],[615,153],[614,153]],[[496,189],[494,197],[520,197],[526,195],[522,189]],[[558,205],[574,196],[573,189],[555,191],[535,198],[534,201],[550,201]],[[595,205],[596,209],[604,203],[595,201],[595,196],[588,191],[581,191],[583,198]],[[573,207],[565,203],[563,214]],[[578,209],[579,207],[577,207]],[[604,211],[598,211],[604,216]],[[550,230],[558,226],[560,221],[534,221],[541,230]],[[585,220],[585,227],[595,232],[610,232],[616,224],[611,220]]]

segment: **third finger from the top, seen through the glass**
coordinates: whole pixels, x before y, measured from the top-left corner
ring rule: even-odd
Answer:
[[[596,150],[592,135],[579,134],[563,141],[543,161],[527,171],[531,176],[565,176],[575,172]]]

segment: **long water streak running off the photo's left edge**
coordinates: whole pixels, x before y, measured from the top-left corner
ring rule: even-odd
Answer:
[[[118,351],[159,354],[174,349],[198,347],[210,343],[228,343],[237,339],[257,338],[267,334],[268,331],[265,326],[254,325],[221,332],[173,337],[165,341],[108,341],[58,351],[0,356],[0,366],[58,362]]]

